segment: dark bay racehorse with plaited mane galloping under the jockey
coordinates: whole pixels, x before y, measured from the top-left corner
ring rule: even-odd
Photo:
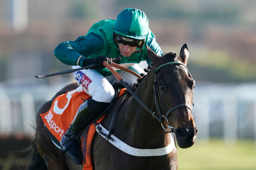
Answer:
[[[179,147],[191,147],[194,145],[198,128],[195,126],[191,113],[195,81],[186,68],[189,55],[187,44],[182,46],[180,56],[176,56],[175,53],[168,53],[159,57],[148,46],[147,55],[154,65],[145,75],[135,94],[152,112],[159,113],[160,110],[162,115],[168,118],[168,122],[174,128],[173,131]],[[170,62],[174,64],[166,64]],[[156,73],[154,73],[156,68],[158,68],[157,72],[155,71]],[[154,86],[154,83],[156,86]],[[34,158],[29,169],[33,169],[32,167],[34,169],[48,170],[83,169],[83,165],[74,164],[66,154],[63,154],[52,143],[47,132],[43,130],[44,123],[40,116],[40,113],[48,111],[53,100],[58,95],[64,94],[76,87],[77,84],[70,84],[64,87],[51,101],[46,102],[40,108],[37,114],[37,147],[35,148]],[[154,87],[155,89],[157,88],[157,96],[154,95]],[[117,99],[110,112],[101,122],[106,129],[108,129],[112,116],[123,98],[124,95]],[[156,98],[158,98],[158,102],[155,102]],[[163,119],[163,126],[167,128],[167,125],[167,121]],[[126,96],[124,104],[119,108],[112,128],[114,136],[134,148],[163,148],[171,141],[169,133],[161,134],[166,131],[163,130],[159,121],[152,117],[129,94]],[[132,156],[103,139],[102,136],[96,133],[93,141],[93,166],[96,170],[177,169],[177,151],[175,147],[170,153],[162,156]]]

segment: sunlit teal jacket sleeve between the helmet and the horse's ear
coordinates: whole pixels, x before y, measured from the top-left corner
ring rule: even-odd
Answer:
[[[162,49],[161,47],[158,45],[158,43],[156,42],[156,37],[155,35],[151,32],[151,36],[148,38],[148,42],[147,42],[148,47],[151,48],[151,50],[153,50],[157,55],[162,56]],[[149,66],[151,66],[152,61],[150,60],[150,58],[148,58],[148,56],[146,56],[146,62]]]

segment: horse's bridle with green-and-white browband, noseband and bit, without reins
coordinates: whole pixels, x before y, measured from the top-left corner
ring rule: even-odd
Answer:
[[[157,103],[157,107],[158,107],[158,112],[159,112],[159,113],[158,113],[158,112],[154,112],[153,117],[156,118],[158,121],[160,120],[159,122],[161,123],[162,128],[163,128],[165,131],[169,131],[170,129],[174,129],[172,126],[169,125],[169,122],[168,122],[168,116],[169,116],[169,114],[170,114],[172,111],[174,111],[174,110],[177,109],[177,108],[187,107],[187,108],[189,108],[190,111],[192,112],[191,107],[190,107],[188,104],[186,104],[186,103],[178,104],[178,105],[172,107],[171,109],[169,109],[168,112],[166,112],[166,109],[163,107],[163,104],[162,104],[162,101],[161,101],[161,98],[160,98],[160,95],[159,95],[158,81],[156,80],[156,74],[157,74],[158,70],[159,70],[160,68],[164,67],[164,66],[167,66],[167,65],[177,65],[177,64],[183,65],[183,66],[187,69],[187,67],[185,66],[185,64],[183,64],[182,62],[179,62],[179,61],[178,61],[178,62],[169,62],[169,63],[162,64],[162,65],[160,65],[158,68],[156,68],[156,69],[154,70],[155,79],[154,79],[154,95],[153,95],[153,100],[154,100],[155,104]],[[165,113],[166,113],[166,117],[161,114],[161,109],[160,109],[159,101],[160,101],[160,103],[161,103],[161,105],[162,105],[163,110],[164,110]],[[162,118],[164,118],[164,119],[167,121],[167,123],[168,123],[167,129],[165,129],[165,127],[163,126]]]

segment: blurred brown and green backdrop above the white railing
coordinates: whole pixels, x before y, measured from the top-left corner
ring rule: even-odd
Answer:
[[[21,0],[20,3],[27,2],[27,14],[23,14],[22,6],[14,9],[15,1],[0,2],[1,82],[66,69],[68,66],[53,56],[54,48],[60,42],[85,35],[99,20],[115,19],[126,7],[136,7],[146,13],[150,29],[164,52],[179,52],[180,47],[188,43],[189,68],[197,81],[256,80],[256,2],[253,0],[141,0],[139,3],[136,0]],[[20,10],[20,14],[16,14],[16,10]],[[19,21],[15,15],[27,18]],[[30,69],[15,65],[21,60],[20,56]],[[13,70],[13,74],[9,75],[6,70]],[[38,83],[36,81],[34,83]]]

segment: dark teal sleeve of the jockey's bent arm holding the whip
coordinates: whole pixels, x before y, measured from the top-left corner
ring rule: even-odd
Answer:
[[[75,41],[66,41],[60,43],[54,50],[54,55],[64,64],[76,66],[79,60],[81,67],[83,60],[92,55],[99,53],[104,46],[104,39],[102,36],[90,33],[86,36],[79,36]]]

